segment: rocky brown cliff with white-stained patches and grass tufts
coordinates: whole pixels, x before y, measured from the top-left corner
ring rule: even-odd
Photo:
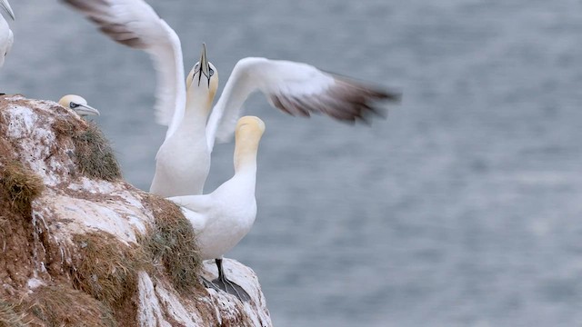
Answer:
[[[95,124],[49,101],[0,96],[0,326],[270,326],[252,299],[206,289],[214,263],[175,204],[121,177]]]

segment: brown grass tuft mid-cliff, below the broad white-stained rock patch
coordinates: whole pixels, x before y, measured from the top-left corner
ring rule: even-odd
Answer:
[[[137,272],[152,271],[143,249],[120,242],[105,232],[76,234],[72,267],[75,288],[110,308],[120,308],[137,289]]]

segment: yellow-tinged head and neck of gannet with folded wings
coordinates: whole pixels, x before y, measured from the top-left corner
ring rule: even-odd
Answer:
[[[265,133],[265,123],[256,116],[244,116],[236,123],[235,130],[235,169],[246,163],[256,163],[261,136]]]

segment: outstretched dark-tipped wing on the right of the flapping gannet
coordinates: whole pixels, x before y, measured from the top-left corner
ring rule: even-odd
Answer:
[[[243,103],[256,90],[287,114],[306,117],[326,114],[346,122],[366,120],[367,114],[378,114],[374,106],[377,100],[400,98],[400,94],[325,73],[309,64],[244,58],[235,65],[208,119],[206,138],[210,149],[215,138],[224,142],[234,133]]]

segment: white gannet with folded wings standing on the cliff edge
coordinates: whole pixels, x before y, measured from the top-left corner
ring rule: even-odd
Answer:
[[[236,124],[235,175],[213,193],[168,198],[187,209],[183,212],[196,231],[201,258],[215,259],[218,278],[212,284],[241,300],[248,300],[249,296],[226,278],[222,257],[245,237],[255,222],[256,152],[264,132],[265,124],[258,117],[240,118]]]

